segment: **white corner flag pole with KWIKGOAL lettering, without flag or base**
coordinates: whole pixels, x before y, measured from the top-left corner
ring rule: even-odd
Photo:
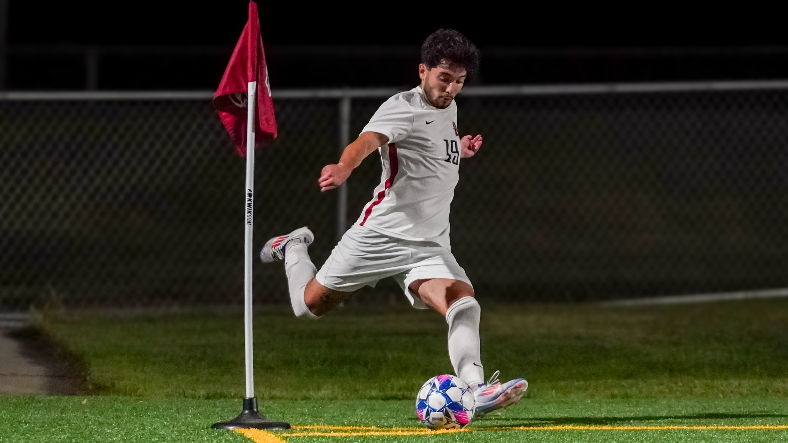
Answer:
[[[252,362],[252,330],[251,330],[251,264],[254,257],[252,250],[252,224],[255,211],[255,94],[257,82],[247,85],[247,182],[245,199],[246,230],[243,236],[243,344],[246,350],[246,397],[255,397],[255,367]]]

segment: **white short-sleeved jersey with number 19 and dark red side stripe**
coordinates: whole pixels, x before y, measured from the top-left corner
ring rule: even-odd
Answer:
[[[362,132],[388,137],[381,184],[356,222],[405,240],[449,246],[448,214],[459,180],[457,105],[428,105],[414,87],[386,100]]]

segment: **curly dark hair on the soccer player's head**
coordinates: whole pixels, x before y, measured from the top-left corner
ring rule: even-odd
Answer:
[[[440,65],[465,68],[468,78],[479,70],[479,48],[454,29],[438,29],[422,44],[422,63],[428,69]]]

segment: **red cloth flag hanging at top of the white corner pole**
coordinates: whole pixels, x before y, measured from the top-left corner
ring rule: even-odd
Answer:
[[[255,145],[277,136],[277,120],[273,117],[271,83],[266,68],[266,54],[262,50],[260,19],[257,3],[249,2],[249,18],[243,27],[236,49],[221,77],[214,94],[214,107],[221,122],[230,133],[232,142],[241,157],[246,155],[247,137],[247,83],[257,82],[257,118],[255,119]]]

